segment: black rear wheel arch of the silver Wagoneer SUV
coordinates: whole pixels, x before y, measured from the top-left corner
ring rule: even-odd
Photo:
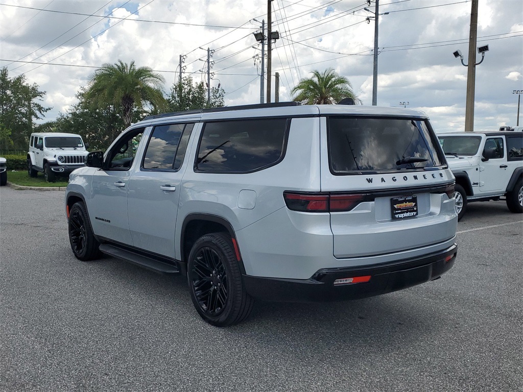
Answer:
[[[240,271],[242,274],[245,274],[240,246],[236,242],[234,228],[228,220],[218,215],[196,213],[185,217],[180,235],[181,260],[187,263],[192,245],[198,238],[206,234],[220,232],[228,233],[231,236]]]

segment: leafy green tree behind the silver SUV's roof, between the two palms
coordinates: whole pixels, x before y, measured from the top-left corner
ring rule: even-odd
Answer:
[[[220,108],[224,106],[225,91],[223,88],[211,88],[211,101],[207,105],[207,87],[203,82],[195,83],[187,76],[181,83],[175,83],[167,95],[167,111],[177,112],[203,108]]]

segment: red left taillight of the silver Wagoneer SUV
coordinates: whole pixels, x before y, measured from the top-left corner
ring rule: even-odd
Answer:
[[[301,212],[341,212],[365,201],[365,194],[283,192],[289,210]]]

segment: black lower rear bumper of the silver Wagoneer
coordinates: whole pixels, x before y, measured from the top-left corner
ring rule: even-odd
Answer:
[[[438,279],[452,268],[457,248],[454,244],[424,257],[374,266],[321,269],[307,280],[243,275],[243,282],[249,295],[265,301],[328,302],[365,298]],[[371,278],[366,283],[334,285],[337,279],[367,275]]]

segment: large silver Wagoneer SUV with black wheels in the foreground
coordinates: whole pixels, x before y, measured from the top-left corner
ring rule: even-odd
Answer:
[[[438,279],[454,177],[423,112],[294,102],[169,113],[89,153],[65,195],[74,255],[187,276],[200,316]]]

